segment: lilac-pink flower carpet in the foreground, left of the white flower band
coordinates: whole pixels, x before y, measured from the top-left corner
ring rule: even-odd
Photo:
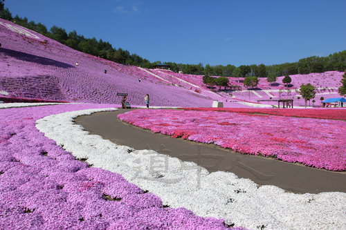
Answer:
[[[226,229],[223,220],[163,207],[156,195],[76,160],[35,127],[48,115],[109,107],[0,109],[0,229]]]

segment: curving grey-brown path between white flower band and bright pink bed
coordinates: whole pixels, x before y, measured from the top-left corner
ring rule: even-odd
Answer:
[[[183,161],[192,161],[208,171],[229,171],[257,184],[271,184],[296,193],[346,192],[345,173],[291,164],[266,157],[242,155],[187,140],[152,133],[121,122],[116,116],[129,110],[94,113],[75,119],[91,134],[135,149],[153,149]]]

